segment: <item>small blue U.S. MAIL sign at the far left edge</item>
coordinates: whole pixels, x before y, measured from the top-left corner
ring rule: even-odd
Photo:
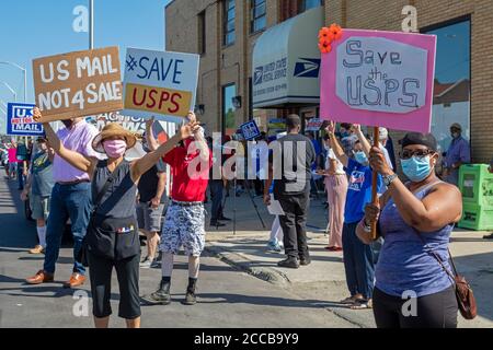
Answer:
[[[10,136],[43,136],[43,125],[33,119],[35,105],[25,103],[9,103],[7,106],[7,135]]]

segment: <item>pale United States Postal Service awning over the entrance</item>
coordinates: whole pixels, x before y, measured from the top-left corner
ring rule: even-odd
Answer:
[[[267,30],[253,50],[253,107],[319,104],[323,7]]]

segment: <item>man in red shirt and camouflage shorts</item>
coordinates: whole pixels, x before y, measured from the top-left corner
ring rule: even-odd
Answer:
[[[196,120],[190,113],[188,121]],[[148,144],[156,147],[151,139]],[[163,158],[171,166],[173,178],[171,199],[161,233],[162,279],[159,289],[144,296],[150,304],[168,305],[171,302],[170,285],[174,256],[185,248],[188,256],[188,287],[185,305],[195,305],[195,287],[198,279],[199,257],[205,246],[205,192],[209,179],[213,155],[200,128]]]

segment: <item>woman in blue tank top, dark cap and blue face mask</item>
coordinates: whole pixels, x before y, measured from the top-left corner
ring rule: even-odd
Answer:
[[[358,237],[370,244],[370,225],[377,221],[378,234],[385,237],[374,292],[377,326],[457,327],[454,280],[444,268],[452,270],[448,245],[454,225],[462,215],[462,198],[457,187],[435,175],[436,139],[409,133],[402,140],[401,164],[410,179],[405,184],[390,170],[379,149],[371,149],[369,161],[388,186],[379,206],[367,206],[357,229]]]

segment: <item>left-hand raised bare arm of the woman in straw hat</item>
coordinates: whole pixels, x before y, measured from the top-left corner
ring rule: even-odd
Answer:
[[[34,120],[41,120],[42,119],[42,113],[39,108],[34,108],[33,110],[33,117]],[[85,158],[82,154],[71,151],[64,147],[64,143],[61,143],[58,136],[53,130],[49,122],[44,122],[43,127],[45,128],[46,138],[48,139],[49,145],[51,149],[57,153],[61,159],[67,161],[70,165],[73,167],[77,167],[81,172],[85,172],[90,175],[92,175],[95,164],[98,163],[96,159],[92,158]]]

